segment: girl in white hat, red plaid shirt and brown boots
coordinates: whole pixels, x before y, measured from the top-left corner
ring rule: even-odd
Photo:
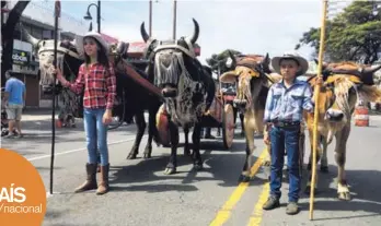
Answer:
[[[107,45],[99,33],[90,32],[79,43],[79,48],[84,50],[85,62],[80,67],[76,82],[68,82],[61,71],[56,70],[57,79],[64,86],[77,94],[84,90],[83,119],[89,153],[88,177],[85,182],[76,189],[76,192],[97,188],[96,194],[104,194],[108,191],[107,124],[112,121],[116,78],[113,67],[108,64]],[[97,150],[101,154],[101,182],[99,185],[96,185]]]

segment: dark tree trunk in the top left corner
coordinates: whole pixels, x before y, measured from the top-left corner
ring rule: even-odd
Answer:
[[[18,22],[20,21],[21,14],[31,1],[18,1],[13,9],[8,14],[7,23],[1,26],[1,45],[2,45],[2,56],[1,56],[1,86],[5,85],[5,71],[12,69],[13,60],[13,33]],[[1,1],[1,7],[3,8],[3,1]],[[1,13],[3,13],[1,11]]]

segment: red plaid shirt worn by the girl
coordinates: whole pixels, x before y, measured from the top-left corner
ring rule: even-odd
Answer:
[[[114,68],[106,70],[102,64],[94,63],[86,70],[83,63],[74,83],[65,84],[72,92],[80,94],[84,87],[83,107],[112,109],[116,96],[116,76]]]

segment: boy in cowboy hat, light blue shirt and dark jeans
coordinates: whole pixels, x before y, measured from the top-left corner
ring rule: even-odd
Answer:
[[[285,53],[273,58],[272,66],[282,80],[270,87],[266,100],[264,120],[268,134],[265,133],[264,142],[272,146],[272,173],[270,194],[263,209],[273,210],[279,206],[286,148],[289,174],[289,202],[286,213],[292,215],[299,212],[299,136],[302,111],[313,111],[314,107],[309,84],[298,81],[297,76],[307,72],[309,63],[298,55]],[[318,83],[321,84],[322,79]]]

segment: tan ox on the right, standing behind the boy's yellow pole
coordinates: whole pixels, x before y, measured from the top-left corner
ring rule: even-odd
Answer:
[[[340,62],[325,64],[323,69],[326,79],[321,86],[319,104],[316,105],[319,108],[318,162],[321,158],[321,170],[327,171],[327,145],[335,136],[335,160],[338,166],[337,193],[340,200],[350,200],[345,175],[346,143],[350,133],[350,118],[359,96],[369,102],[381,100],[381,91],[372,86],[373,73],[380,68],[381,66],[371,69],[354,62]],[[312,88],[315,86],[315,79],[314,76],[309,81]],[[311,143],[313,139],[313,116],[314,114],[304,112]],[[305,192],[309,191],[310,181]]]

